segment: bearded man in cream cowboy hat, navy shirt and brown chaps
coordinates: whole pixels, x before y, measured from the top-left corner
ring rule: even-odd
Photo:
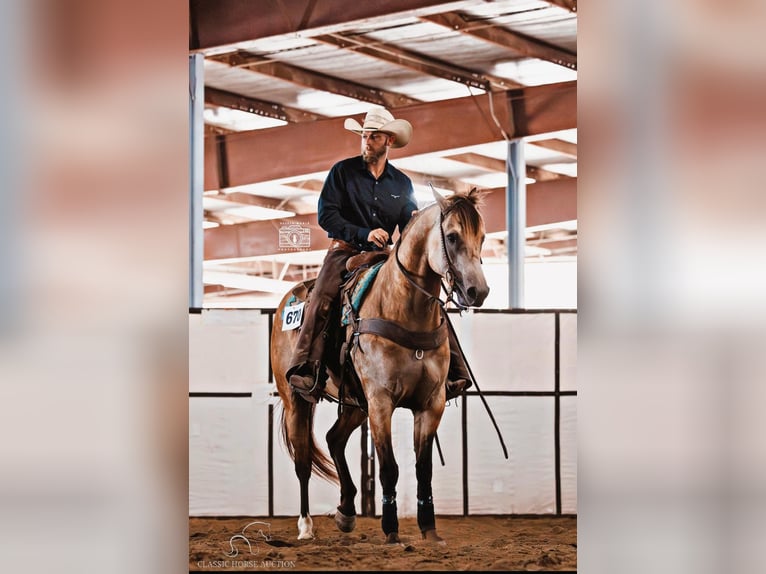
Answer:
[[[363,125],[348,118],[344,127],[361,135],[361,155],[336,163],[319,196],[319,225],[333,241],[306,306],[287,371],[290,386],[309,402],[316,402],[322,394],[319,369],[326,332],[337,328],[329,325],[329,319],[346,273],[346,262],[361,252],[387,250],[394,229],[398,226],[401,233],[418,208],[412,181],[388,162],[389,148],[409,143],[412,125],[375,106],[365,116]],[[447,400],[471,386],[452,330],[449,346]]]

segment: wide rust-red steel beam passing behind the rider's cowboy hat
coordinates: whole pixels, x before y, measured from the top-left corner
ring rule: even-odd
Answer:
[[[406,148],[392,150],[391,158],[502,140],[490,97],[494,117],[510,137],[577,127],[577,82],[426,102],[397,110],[398,118],[412,123],[414,135]],[[358,137],[351,137],[343,122],[329,118],[206,138],[205,189],[326,171],[359,153]]]

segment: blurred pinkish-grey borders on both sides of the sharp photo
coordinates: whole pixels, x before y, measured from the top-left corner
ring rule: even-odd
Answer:
[[[0,9],[4,571],[188,563],[187,9]],[[766,566],[764,11],[579,13],[582,572]]]

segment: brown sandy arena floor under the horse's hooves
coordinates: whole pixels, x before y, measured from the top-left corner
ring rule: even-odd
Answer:
[[[402,544],[384,543],[378,518],[358,517],[350,534],[338,531],[332,517],[313,520],[316,538],[297,540],[296,517],[190,518],[189,570],[577,569],[577,519],[571,516],[439,516],[444,545],[422,540],[415,518],[399,519]],[[253,521],[262,524],[243,535]]]

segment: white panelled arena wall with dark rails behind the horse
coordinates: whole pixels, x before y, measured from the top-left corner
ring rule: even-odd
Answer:
[[[190,516],[298,514],[298,479],[281,442],[280,401],[270,382],[272,314],[203,309],[189,316]],[[437,514],[576,514],[577,314],[477,310],[450,317],[509,458],[475,387],[449,404],[438,433],[445,466],[434,449]],[[317,407],[323,446],[336,415],[335,404]],[[416,514],[412,425],[410,411],[397,409],[400,516]],[[362,452],[357,429],[346,454],[360,493]],[[379,512],[378,470],[376,461]],[[335,485],[312,479],[311,514],[334,513],[338,502]],[[361,512],[360,494],[356,506]]]

